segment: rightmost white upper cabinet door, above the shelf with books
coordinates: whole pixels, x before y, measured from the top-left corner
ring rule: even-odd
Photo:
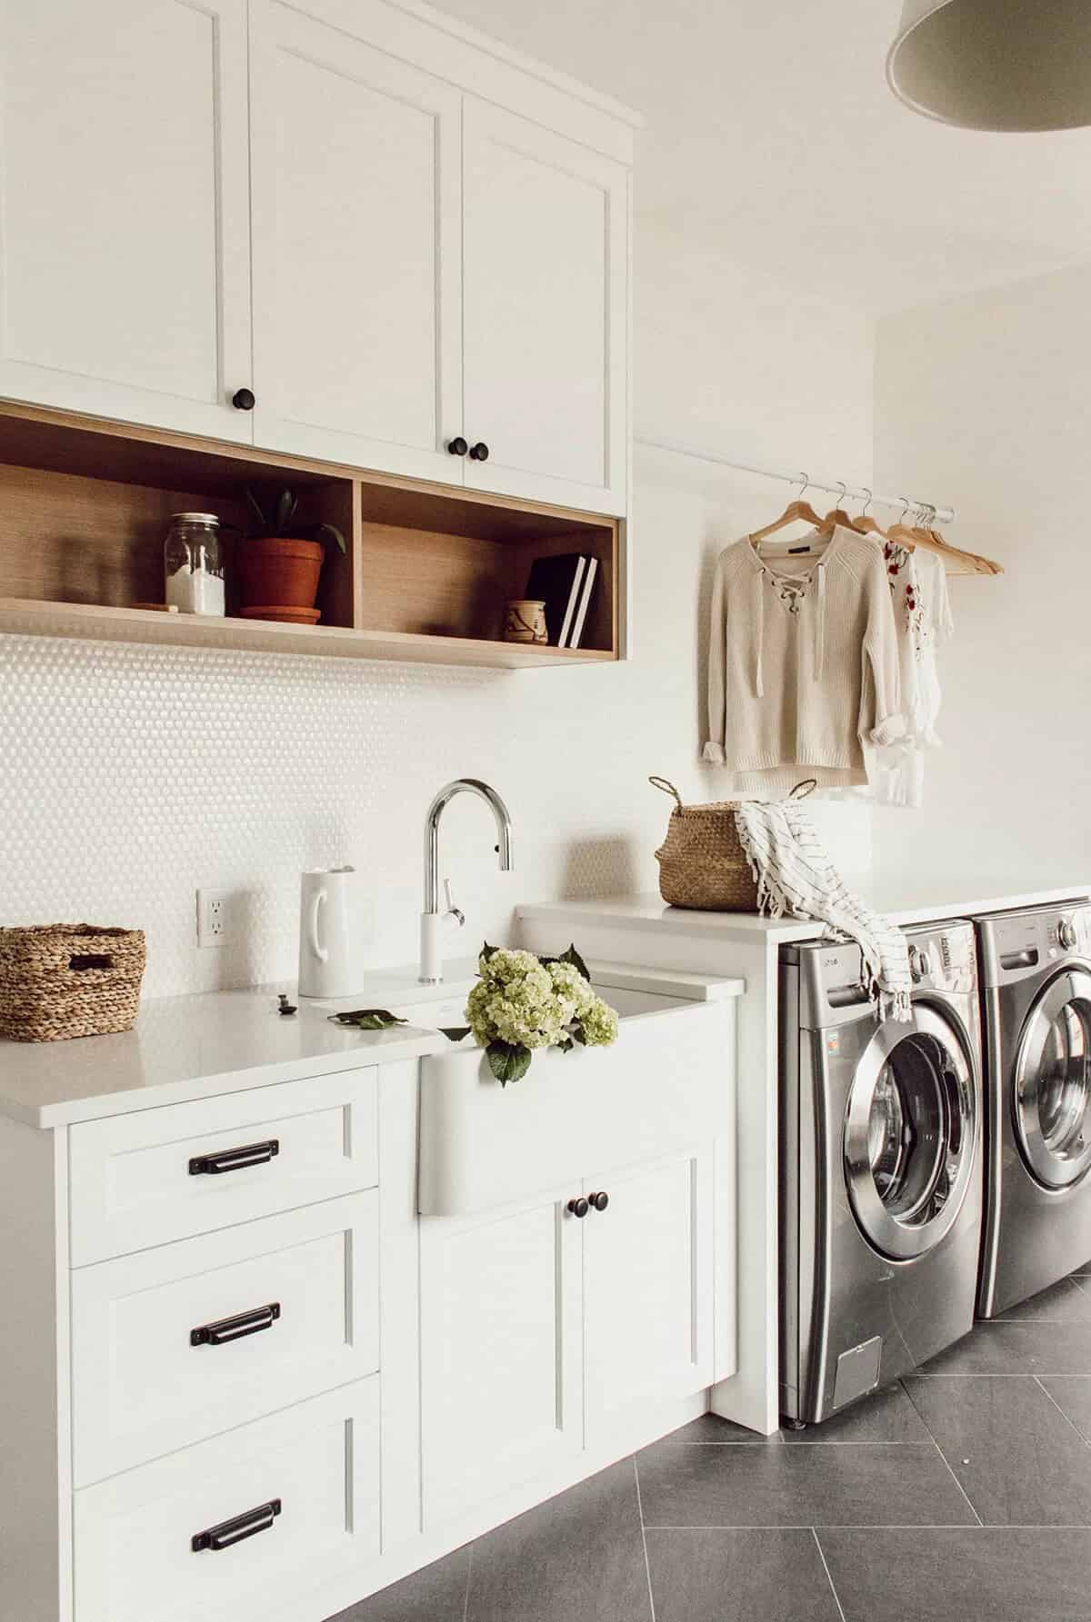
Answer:
[[[628,172],[466,97],[466,483],[623,513]]]

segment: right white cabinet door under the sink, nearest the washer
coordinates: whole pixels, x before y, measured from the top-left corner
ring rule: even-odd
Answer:
[[[713,1153],[586,1184],[584,1400],[593,1444],[638,1405],[713,1380]],[[607,1205],[596,1208],[602,1195]],[[597,1197],[597,1200],[596,1200]]]

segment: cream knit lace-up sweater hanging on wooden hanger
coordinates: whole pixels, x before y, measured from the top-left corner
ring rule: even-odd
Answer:
[[[904,732],[880,548],[841,527],[802,545],[809,558],[760,558],[744,537],[716,564],[705,759],[727,766],[729,795],[865,783],[864,743]]]

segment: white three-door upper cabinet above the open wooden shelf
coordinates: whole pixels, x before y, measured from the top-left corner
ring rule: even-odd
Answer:
[[[630,161],[417,3],[0,0],[0,394],[622,514]]]

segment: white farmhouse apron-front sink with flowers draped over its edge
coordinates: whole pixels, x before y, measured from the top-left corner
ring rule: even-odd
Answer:
[[[537,1051],[507,1087],[472,1036],[422,1059],[420,1215],[578,1189],[589,1166],[640,1165],[731,1131],[740,983],[593,968],[593,985],[620,1015],[609,1048]],[[429,1028],[466,1023],[459,998],[401,1012]]]

